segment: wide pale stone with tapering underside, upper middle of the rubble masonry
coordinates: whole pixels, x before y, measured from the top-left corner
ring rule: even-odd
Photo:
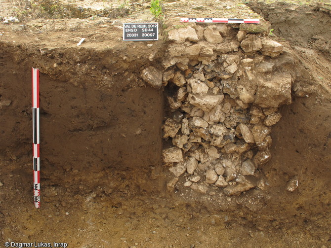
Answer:
[[[206,96],[199,96],[189,93],[187,97],[187,101],[197,106],[205,111],[210,111],[216,105],[220,104],[224,99],[224,95],[206,95]]]

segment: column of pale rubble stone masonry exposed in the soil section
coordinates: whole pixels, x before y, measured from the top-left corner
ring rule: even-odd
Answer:
[[[186,186],[230,196],[265,186],[258,169],[271,158],[278,107],[291,103],[293,57],[244,30],[197,24],[168,31],[162,157],[170,191]]]

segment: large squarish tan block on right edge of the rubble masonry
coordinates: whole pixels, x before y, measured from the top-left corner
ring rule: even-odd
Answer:
[[[260,107],[278,107],[291,103],[290,74],[273,74],[260,78],[257,82],[255,105]]]

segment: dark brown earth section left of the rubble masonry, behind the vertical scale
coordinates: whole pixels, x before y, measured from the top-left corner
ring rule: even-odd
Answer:
[[[35,67],[41,72],[41,177],[160,165],[163,96],[137,78],[144,59],[131,64],[114,50],[40,51],[3,43],[0,50],[2,155],[31,156]]]

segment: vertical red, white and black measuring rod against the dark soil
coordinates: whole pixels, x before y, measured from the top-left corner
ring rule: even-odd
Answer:
[[[40,208],[40,139],[39,139],[39,69],[32,68],[32,123],[33,123],[33,170],[34,203]]]

